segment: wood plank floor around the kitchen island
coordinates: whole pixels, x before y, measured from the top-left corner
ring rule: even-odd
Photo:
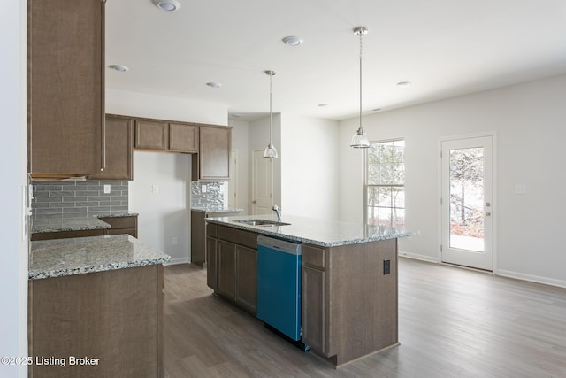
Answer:
[[[174,377],[566,377],[566,289],[400,258],[400,346],[339,370],[212,296],[206,271],[165,267]]]

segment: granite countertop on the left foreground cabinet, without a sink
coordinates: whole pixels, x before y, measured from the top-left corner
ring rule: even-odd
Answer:
[[[31,242],[29,280],[164,264],[170,256],[130,235]]]

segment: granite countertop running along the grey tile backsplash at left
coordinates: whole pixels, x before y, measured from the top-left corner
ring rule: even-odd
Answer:
[[[113,214],[98,214],[93,217],[80,218],[52,218],[47,220],[33,220],[32,234],[40,232],[79,231],[87,229],[111,228],[111,225],[99,218],[115,218],[137,216],[137,212],[123,212]]]

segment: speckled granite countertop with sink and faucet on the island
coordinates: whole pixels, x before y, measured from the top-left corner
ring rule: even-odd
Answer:
[[[312,218],[285,215],[282,222],[286,226],[250,226],[235,220],[277,220],[275,215],[241,215],[235,217],[207,218],[206,221],[231,228],[255,232],[261,235],[276,236],[295,242],[309,243],[322,247],[376,242],[379,240],[396,239],[419,235],[418,232],[404,228],[388,228],[383,226],[365,225],[337,220],[317,220]]]

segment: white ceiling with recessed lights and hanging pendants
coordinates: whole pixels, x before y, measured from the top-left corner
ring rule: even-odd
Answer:
[[[566,73],[565,0],[107,0],[106,86],[343,120]],[[301,36],[289,47],[281,40]],[[222,87],[205,84],[218,81]],[[399,81],[411,81],[399,87]],[[320,107],[318,104],[328,104]]]

